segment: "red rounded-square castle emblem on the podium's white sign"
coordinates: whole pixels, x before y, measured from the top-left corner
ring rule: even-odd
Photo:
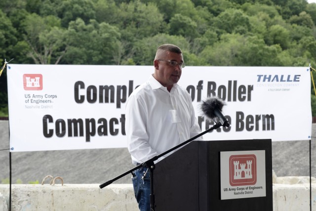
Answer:
[[[257,182],[257,159],[251,155],[229,158],[229,182],[232,186],[254,185]]]

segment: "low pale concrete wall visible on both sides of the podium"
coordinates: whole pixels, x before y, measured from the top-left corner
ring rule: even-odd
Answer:
[[[274,211],[309,211],[309,183],[273,184]],[[312,184],[316,211],[316,184]],[[9,185],[0,185],[0,211],[8,210]],[[131,184],[14,184],[12,211],[138,211]]]

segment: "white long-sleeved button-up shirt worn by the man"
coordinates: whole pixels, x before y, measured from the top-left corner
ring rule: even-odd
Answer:
[[[153,76],[129,96],[125,117],[128,150],[134,165],[201,132],[188,91],[173,84],[169,92]]]

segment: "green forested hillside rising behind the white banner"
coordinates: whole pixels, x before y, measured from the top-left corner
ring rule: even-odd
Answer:
[[[152,65],[168,42],[190,66],[316,67],[315,25],[306,0],[1,0],[0,63]]]

